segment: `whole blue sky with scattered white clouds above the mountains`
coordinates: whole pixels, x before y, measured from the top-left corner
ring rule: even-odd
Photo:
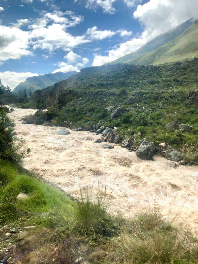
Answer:
[[[0,0],[0,78],[102,65],[191,17],[197,0]]]

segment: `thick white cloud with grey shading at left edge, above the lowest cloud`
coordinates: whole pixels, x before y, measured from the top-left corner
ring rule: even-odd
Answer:
[[[0,61],[32,55],[31,51],[27,50],[29,48],[28,39],[27,31],[0,25]]]

